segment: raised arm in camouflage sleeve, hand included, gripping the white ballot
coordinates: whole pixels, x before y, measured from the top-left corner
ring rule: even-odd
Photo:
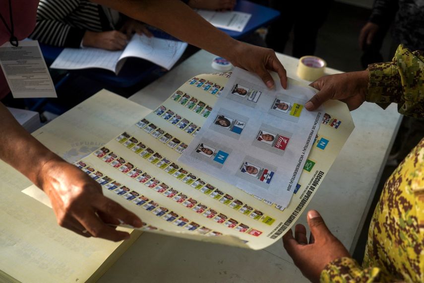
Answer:
[[[310,85],[319,91],[306,102],[309,111],[329,99],[338,99],[350,110],[364,101],[383,109],[394,102],[399,113],[424,117],[424,55],[403,45],[399,45],[392,62],[371,64],[365,71],[326,75]]]

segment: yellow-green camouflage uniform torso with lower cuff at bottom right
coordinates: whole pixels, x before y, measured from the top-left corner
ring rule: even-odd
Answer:
[[[384,185],[363,267],[351,258],[329,263],[321,282],[424,282],[424,139]]]

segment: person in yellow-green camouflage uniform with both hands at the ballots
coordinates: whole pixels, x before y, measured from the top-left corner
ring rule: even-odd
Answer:
[[[319,91],[306,104],[314,110],[329,99],[350,110],[364,101],[385,108],[391,102],[411,117],[424,117],[424,54],[400,45],[393,62],[365,71],[323,76],[310,84]],[[348,219],[347,219],[348,220]],[[424,139],[386,181],[368,230],[363,266],[328,230],[321,215],[307,213],[310,227],[298,224],[283,236],[284,247],[312,282],[424,282]]]

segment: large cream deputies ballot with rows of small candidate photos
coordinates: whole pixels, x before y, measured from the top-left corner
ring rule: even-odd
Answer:
[[[278,81],[276,74],[273,75]],[[188,79],[179,89],[170,91],[170,97],[153,112],[148,115],[140,114],[137,122],[129,128],[123,128],[116,138],[104,145],[99,144],[94,152],[82,159],[68,160],[74,161],[75,166],[99,183],[105,196],[138,215],[144,222],[141,228],[143,231],[255,250],[275,243],[306,208],[352,132],[354,124],[346,104],[339,101],[326,103],[325,113],[322,115],[324,118],[319,120],[321,126],[310,140],[309,146],[312,148],[309,155],[304,155],[304,166],[299,168],[298,174],[302,175],[294,186],[291,202],[283,207],[274,199],[259,198],[213,177],[208,172],[199,170],[197,165],[190,166],[178,161],[181,154],[191,146],[193,139],[201,135],[200,128],[205,127],[208,117],[222,108],[219,107],[218,97],[225,98],[232,94],[225,92],[225,85],[233,86],[233,82],[228,83],[229,79],[240,83],[240,87],[244,86],[237,76],[233,79],[231,72],[201,74]],[[253,79],[249,77],[247,82],[253,83]],[[289,85],[287,91],[299,86],[291,79]],[[312,92],[305,92],[303,95],[310,96],[313,89],[309,89]],[[260,103],[261,99],[266,96],[270,98],[271,94],[265,90],[260,95],[258,92],[249,92],[247,97],[235,99],[241,98],[245,103]],[[297,99],[305,97],[301,95]],[[301,101],[287,102],[300,104]],[[255,110],[254,107],[252,110],[248,109],[248,112]],[[93,111],[97,111],[93,115],[99,116],[99,110],[105,114],[111,111],[105,105],[93,108]],[[233,108],[229,110],[235,112]],[[303,109],[300,117],[288,115],[290,117],[286,117],[284,121],[299,125],[301,122],[296,123],[295,120],[302,118],[304,113],[306,111]],[[84,120],[86,119],[81,120],[81,125],[84,125]],[[85,124],[88,122],[86,120]],[[250,123],[251,120],[246,122]],[[106,125],[109,123],[105,122]],[[261,134],[263,140],[269,139],[265,136],[267,133],[285,135],[285,132],[281,132],[282,125],[269,126],[280,131],[274,133],[272,128],[264,129]],[[236,127],[242,128],[242,125],[239,123]],[[96,135],[100,127],[90,126],[84,130],[89,130],[88,135]],[[242,129],[242,135],[247,133],[245,130],[247,128]],[[61,133],[65,130],[57,131]],[[251,133],[258,141],[256,134],[259,133]],[[57,136],[54,133],[49,135],[51,142]],[[253,142],[254,139],[251,145]],[[266,151],[266,147],[261,147],[260,143],[255,144],[258,146],[254,146],[255,150]],[[265,145],[275,147],[276,144]],[[289,150],[290,145],[291,141],[286,150]],[[275,150],[282,149],[275,147]],[[285,155],[286,153],[279,156]],[[36,194],[31,195],[37,198]]]

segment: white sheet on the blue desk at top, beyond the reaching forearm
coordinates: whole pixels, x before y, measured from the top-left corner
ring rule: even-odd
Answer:
[[[213,26],[233,31],[242,32],[250,17],[249,13],[238,11],[217,12],[210,10],[197,10],[205,20]]]

